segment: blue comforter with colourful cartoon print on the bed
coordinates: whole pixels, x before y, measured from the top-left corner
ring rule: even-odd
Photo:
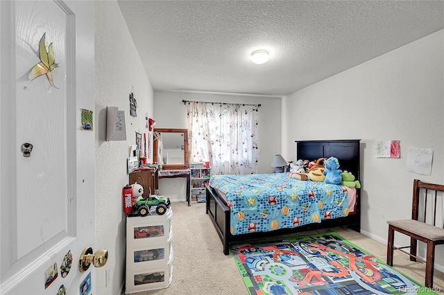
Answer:
[[[300,181],[289,173],[213,175],[231,208],[232,235],[274,231],[348,215],[348,190],[336,184]]]

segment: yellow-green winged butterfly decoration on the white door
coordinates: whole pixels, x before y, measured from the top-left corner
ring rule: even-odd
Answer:
[[[53,75],[51,74],[51,71],[53,69],[56,69],[56,67],[58,67],[58,64],[54,62],[54,51],[52,43],[49,44],[48,51],[46,51],[46,46],[44,44],[45,35],[46,33],[43,33],[42,39],[40,39],[39,42],[40,62],[33,66],[33,69],[31,69],[31,71],[29,72],[28,79],[34,80],[35,78],[46,74],[46,77],[49,80],[49,84],[54,86]]]

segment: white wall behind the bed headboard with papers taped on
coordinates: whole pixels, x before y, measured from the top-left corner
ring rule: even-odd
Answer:
[[[296,138],[361,139],[361,231],[382,242],[387,220],[411,217],[413,179],[444,183],[443,41],[441,30],[292,93],[282,103],[283,154],[294,154]],[[375,157],[382,140],[400,140],[400,159]],[[432,175],[407,171],[409,147],[434,150]],[[444,249],[437,252],[444,265]]]

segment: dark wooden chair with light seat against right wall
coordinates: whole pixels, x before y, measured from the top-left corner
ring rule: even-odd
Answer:
[[[439,193],[441,192],[441,193]],[[439,184],[427,184],[413,180],[413,206],[411,220],[388,221],[387,264],[393,266],[393,250],[400,250],[410,256],[411,261],[425,262],[425,286],[432,288],[434,272],[435,246],[444,244],[444,229],[436,226],[436,201],[438,197],[444,199],[444,186]],[[432,199],[432,204],[427,205],[427,200]],[[419,216],[419,209],[423,213]],[[428,209],[428,210],[427,210]],[[432,212],[431,212],[432,211]],[[427,215],[428,214],[428,215]],[[428,223],[425,223],[425,222]],[[410,246],[395,247],[395,231],[410,237]],[[427,244],[425,259],[419,258],[416,253],[418,240]],[[410,251],[403,249],[410,248]]]

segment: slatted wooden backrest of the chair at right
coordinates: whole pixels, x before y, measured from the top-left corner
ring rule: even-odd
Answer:
[[[436,224],[436,215],[439,213],[436,211],[437,204],[438,206],[441,204],[441,208],[443,206],[443,201],[440,201],[440,198],[444,200],[444,185],[429,184],[418,179],[413,180],[413,207],[411,219],[419,220],[419,218],[422,217],[423,220],[419,221],[428,221],[427,223],[430,222],[433,226],[444,228],[443,223]],[[444,219],[442,216],[441,218],[442,220]]]

